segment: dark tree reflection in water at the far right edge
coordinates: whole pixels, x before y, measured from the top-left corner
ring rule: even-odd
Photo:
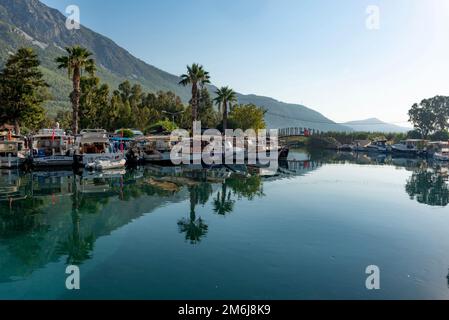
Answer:
[[[430,206],[447,206],[449,204],[449,187],[447,174],[438,169],[423,167],[413,172],[405,185],[411,199]]]

